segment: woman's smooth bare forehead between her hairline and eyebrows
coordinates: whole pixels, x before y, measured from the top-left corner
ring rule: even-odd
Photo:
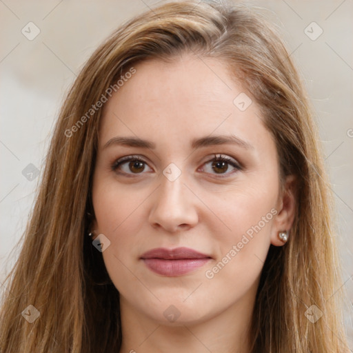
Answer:
[[[163,132],[166,141],[181,142],[212,132],[251,132],[255,139],[266,132],[250,92],[218,59],[184,55],[168,63],[143,61],[134,69],[105,104],[100,145],[115,134]]]

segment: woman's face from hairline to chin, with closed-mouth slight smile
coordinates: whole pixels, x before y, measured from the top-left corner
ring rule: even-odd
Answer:
[[[252,307],[270,243],[292,222],[259,107],[216,59],[134,68],[105,103],[92,189],[121,305],[159,323]],[[144,255],[181,247],[201,258]]]

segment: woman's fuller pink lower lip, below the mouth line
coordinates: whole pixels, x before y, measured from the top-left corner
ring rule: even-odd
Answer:
[[[153,272],[163,274],[163,276],[180,276],[186,274],[196,268],[201,268],[210,258],[203,259],[143,259],[145,265]]]

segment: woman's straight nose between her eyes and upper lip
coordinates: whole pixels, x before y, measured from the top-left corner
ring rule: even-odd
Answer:
[[[198,222],[196,196],[184,185],[183,173],[174,181],[161,174],[161,185],[154,192],[148,221],[153,228],[168,232],[188,230]]]

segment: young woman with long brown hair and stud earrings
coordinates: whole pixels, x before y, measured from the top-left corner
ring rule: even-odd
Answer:
[[[121,26],[63,104],[1,352],[347,352],[318,141],[254,10]]]

